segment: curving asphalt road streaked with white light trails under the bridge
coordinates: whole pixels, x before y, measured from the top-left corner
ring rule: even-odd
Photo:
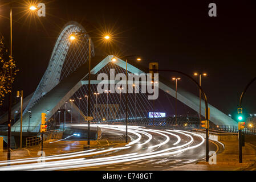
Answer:
[[[125,133],[125,126],[121,125],[96,126],[101,127],[103,133],[109,135],[118,136]],[[74,124],[72,127],[86,129],[87,125]],[[153,130],[137,126],[129,126],[128,134],[131,137],[128,144],[120,143],[86,151],[49,155],[40,160],[12,160],[11,166],[6,166],[6,162],[0,162],[0,170],[156,171],[193,164],[205,158],[205,139],[201,135],[181,130]],[[56,141],[55,144],[65,140],[68,138]],[[209,151],[222,150],[221,144],[209,143]]]

